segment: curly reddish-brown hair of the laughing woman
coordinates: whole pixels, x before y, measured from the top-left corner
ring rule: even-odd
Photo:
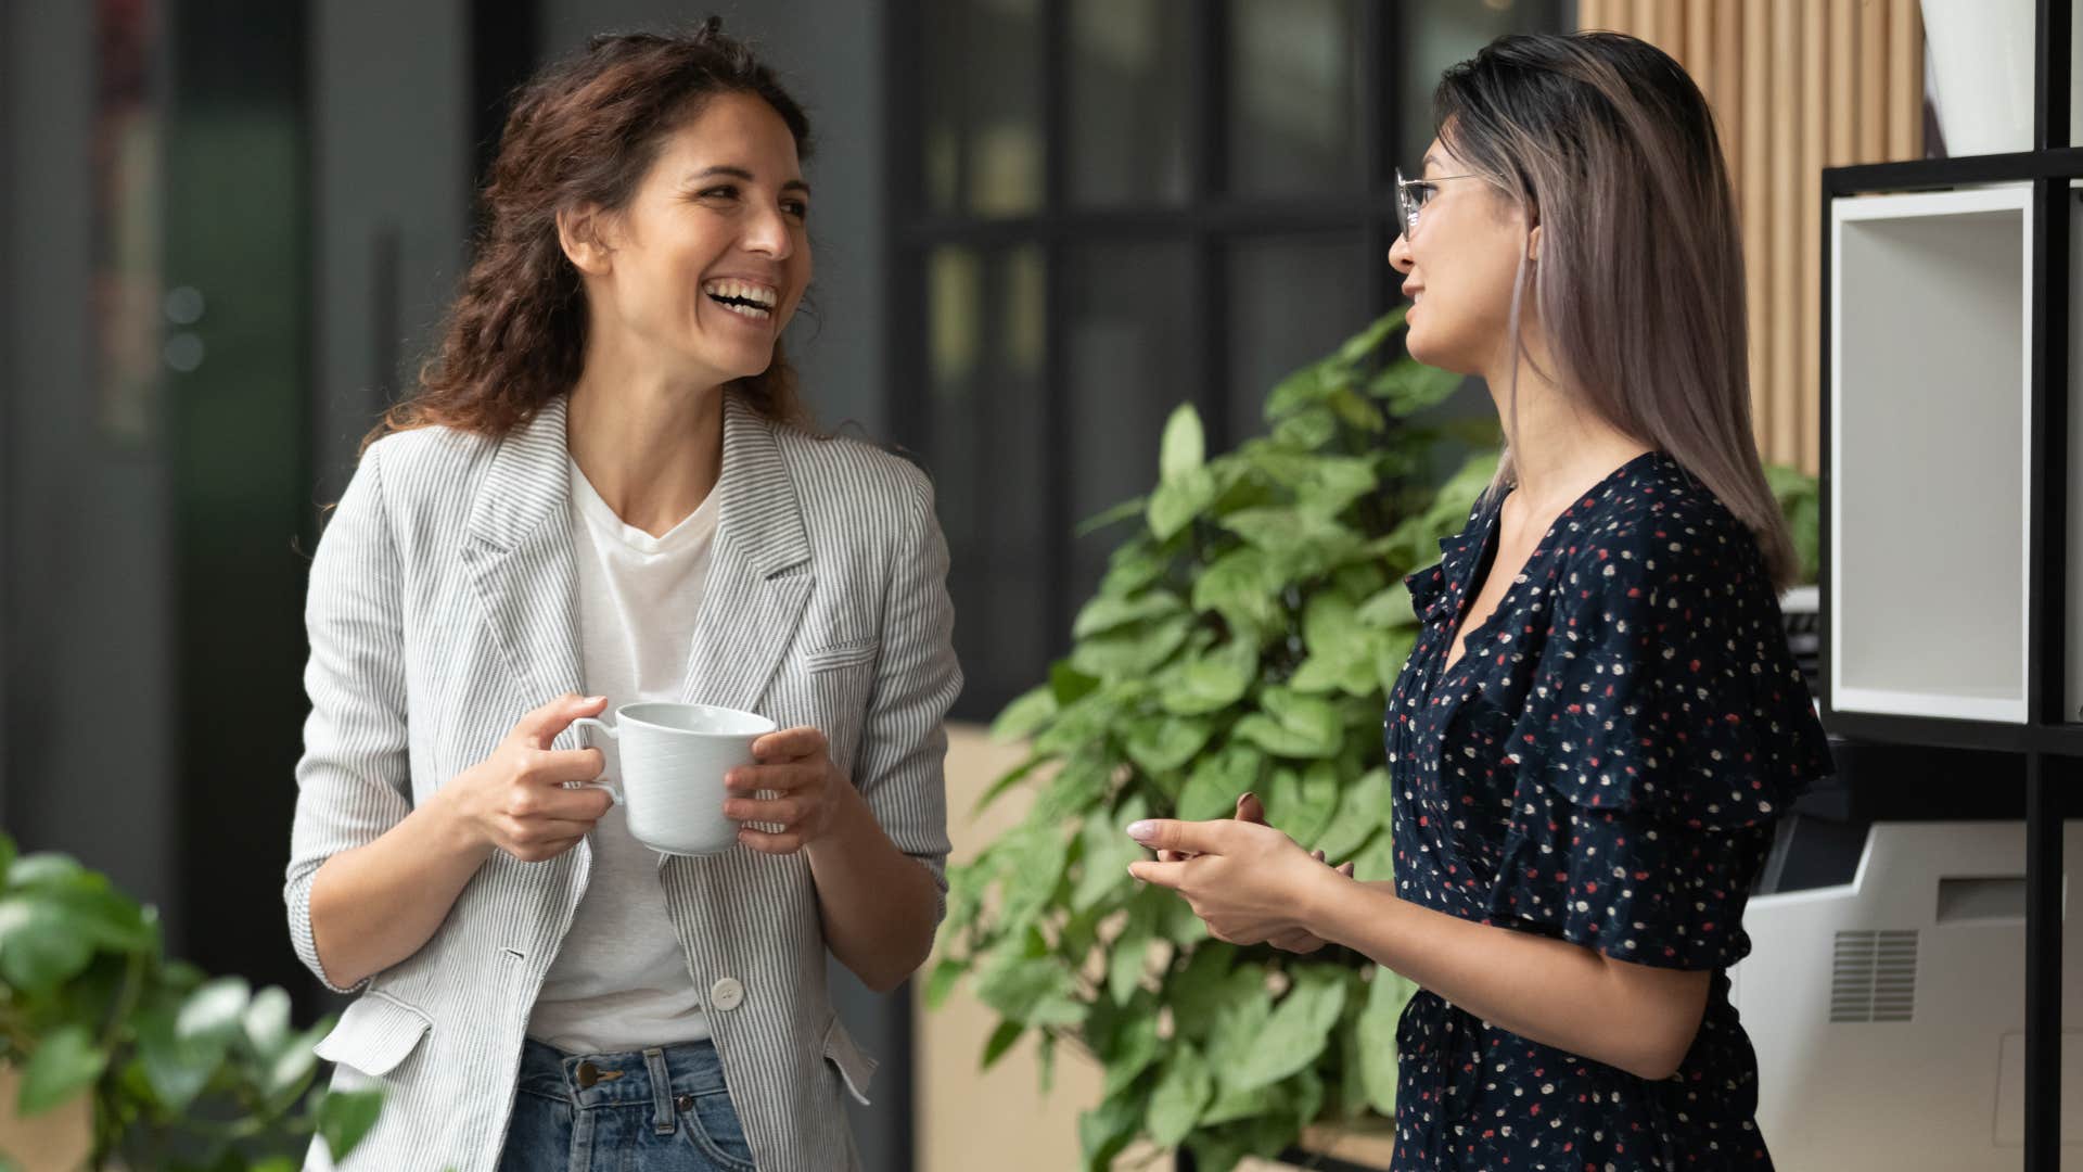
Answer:
[[[504,436],[567,394],[585,361],[585,288],[556,215],[629,206],[667,136],[719,94],[762,98],[810,156],[810,121],[752,48],[710,17],[692,33],[608,33],[521,88],[479,194],[483,229],[419,394],[383,413],[392,432],[448,425]],[[729,388],[777,423],[808,425],[796,371],[773,363]]]

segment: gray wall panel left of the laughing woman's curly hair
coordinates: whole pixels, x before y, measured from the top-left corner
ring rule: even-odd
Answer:
[[[469,33],[465,0],[312,6],[317,500],[340,498],[362,434],[412,386],[462,275]]]

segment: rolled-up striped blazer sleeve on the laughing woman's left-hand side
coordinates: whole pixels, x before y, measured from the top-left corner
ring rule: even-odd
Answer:
[[[340,851],[373,843],[412,811],[406,744],[402,573],[383,500],[381,444],[333,509],[310,565],[304,630],[304,755],[283,901],[290,943],[331,991],[310,930],[310,882]]]

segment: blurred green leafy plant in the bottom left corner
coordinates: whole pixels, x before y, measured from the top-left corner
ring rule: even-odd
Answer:
[[[0,834],[0,1061],[23,1116],[92,1095],[94,1168],[292,1172],[312,1132],[346,1155],[381,1091],[306,1095],[329,1028],[294,1030],[281,988],[169,961],[152,907]]]

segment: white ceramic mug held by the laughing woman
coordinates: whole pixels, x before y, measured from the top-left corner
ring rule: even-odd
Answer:
[[[714,705],[635,703],[614,709],[614,724],[571,722],[598,730],[621,751],[621,788],[608,790],[629,817],[629,834],[662,855],[714,855],[737,843],[737,822],[723,815],[723,776],[752,763],[752,742],[775,722]]]

